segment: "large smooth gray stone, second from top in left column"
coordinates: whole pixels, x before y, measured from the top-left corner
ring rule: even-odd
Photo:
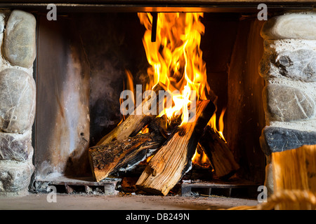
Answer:
[[[24,133],[34,123],[35,82],[25,71],[6,69],[0,73],[0,130]]]

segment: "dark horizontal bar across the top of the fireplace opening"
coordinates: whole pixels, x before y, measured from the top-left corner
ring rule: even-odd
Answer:
[[[45,3],[47,2],[47,3]],[[258,2],[215,2],[215,1],[99,1],[82,3],[82,1],[53,1],[58,13],[135,13],[135,12],[204,12],[204,13],[258,13]],[[106,2],[106,3],[105,3]],[[51,3],[51,2],[49,2]],[[1,1],[0,8],[30,10],[47,13],[48,1]],[[268,11],[283,12],[287,10],[313,10],[314,2],[268,1]]]

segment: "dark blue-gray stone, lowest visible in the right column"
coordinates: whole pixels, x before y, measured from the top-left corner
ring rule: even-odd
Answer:
[[[265,155],[316,144],[316,132],[301,132],[283,127],[267,126],[260,137],[261,148]]]

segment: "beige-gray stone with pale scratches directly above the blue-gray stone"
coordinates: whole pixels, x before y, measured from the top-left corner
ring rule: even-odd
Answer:
[[[315,102],[305,92],[287,85],[269,84],[263,89],[263,106],[269,120],[296,121],[315,116]]]

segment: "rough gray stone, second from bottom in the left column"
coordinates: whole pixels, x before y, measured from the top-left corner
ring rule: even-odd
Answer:
[[[24,134],[0,132],[0,160],[31,160],[33,155],[32,130]]]

